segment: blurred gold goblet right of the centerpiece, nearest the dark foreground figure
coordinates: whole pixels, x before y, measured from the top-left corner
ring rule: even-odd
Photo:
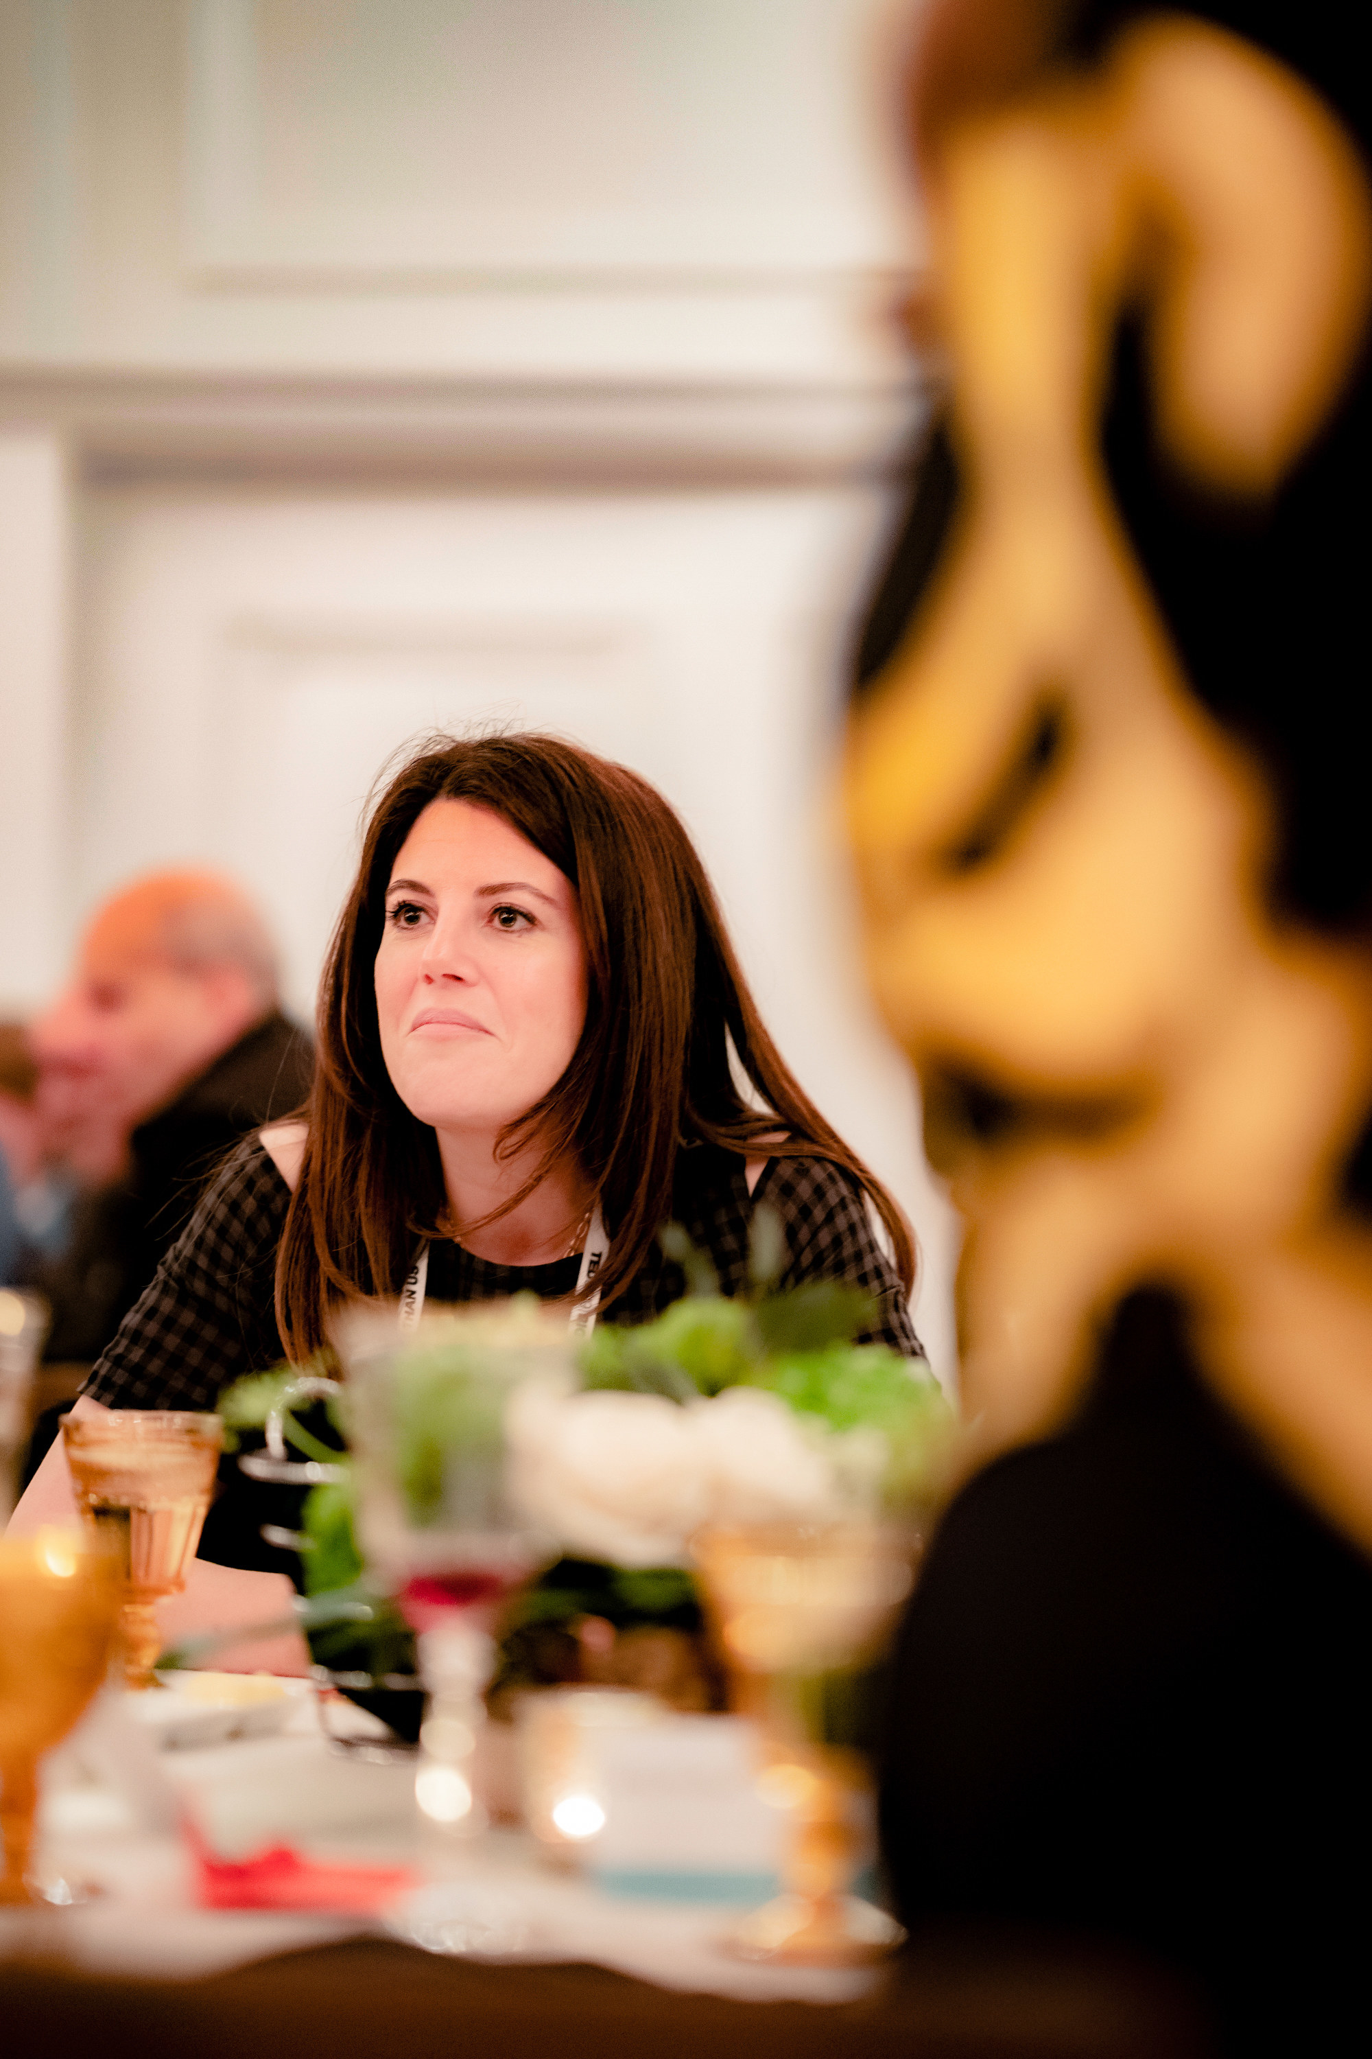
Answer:
[[[915,1540],[876,1522],[759,1524],[695,1538],[732,1701],[763,1725],[761,1787],[792,1816],[784,1892],[728,1938],[743,1958],[862,1966],[903,1940],[850,1894],[866,1769],[813,1738],[823,1678],[874,1660],[911,1590]]]

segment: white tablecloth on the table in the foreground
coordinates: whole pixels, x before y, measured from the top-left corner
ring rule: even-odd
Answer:
[[[290,1841],[319,1859],[403,1861],[428,1882],[450,1880],[463,1896],[514,1905],[529,1962],[590,1960],[662,1987],[747,2001],[850,2001],[878,1979],[732,1960],[720,1948],[730,1911],[609,1896],[549,1872],[520,1833],[446,1841],[420,1824],[409,1767],[337,1756],[309,1703],[276,1738],[202,1750],[156,1750],[134,1736],[117,1699],[99,1705],[47,1767],[41,1851],[49,1872],[101,1892],[82,1907],[0,1913],[0,1954],[195,1979],[383,1929],[374,1919],[195,1907],[195,1874],[177,1833],[183,1810],[224,1857]]]

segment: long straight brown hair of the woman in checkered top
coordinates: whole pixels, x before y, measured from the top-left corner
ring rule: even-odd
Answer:
[[[613,1244],[609,1303],[642,1266],[673,1209],[687,1139],[747,1157],[843,1165],[884,1221],[905,1287],[913,1242],[897,1202],[802,1093],[761,1023],[724,920],[681,822],[623,766],[541,735],[430,737],[372,809],[358,877],[319,988],[309,1139],[276,1268],[276,1314],[300,1363],[352,1295],[397,1293],[416,1240],[446,1202],[438,1139],[391,1085],[376,1023],[374,962],[401,844],[432,801],[502,815],[576,887],[586,945],[586,1023],[562,1079],[508,1124],[498,1149],[539,1141],[518,1207],[572,1153]],[[730,1065],[753,1087],[749,1106]]]

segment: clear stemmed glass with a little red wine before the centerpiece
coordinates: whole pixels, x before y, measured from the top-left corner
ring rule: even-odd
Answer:
[[[574,1382],[568,1328],[512,1303],[426,1310],[401,1332],[395,1307],[364,1305],[339,1320],[337,1349],[358,1542],[416,1633],[428,1690],[416,1800],[432,1822],[473,1835],[483,1826],[471,1769],[492,1625],[551,1557],[510,1497],[506,1410],[531,1380]]]

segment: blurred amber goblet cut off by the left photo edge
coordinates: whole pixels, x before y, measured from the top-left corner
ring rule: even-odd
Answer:
[[[105,1678],[117,1614],[119,1565],[74,1526],[0,1538],[0,1903],[43,1900],[29,1882],[37,1763]]]

